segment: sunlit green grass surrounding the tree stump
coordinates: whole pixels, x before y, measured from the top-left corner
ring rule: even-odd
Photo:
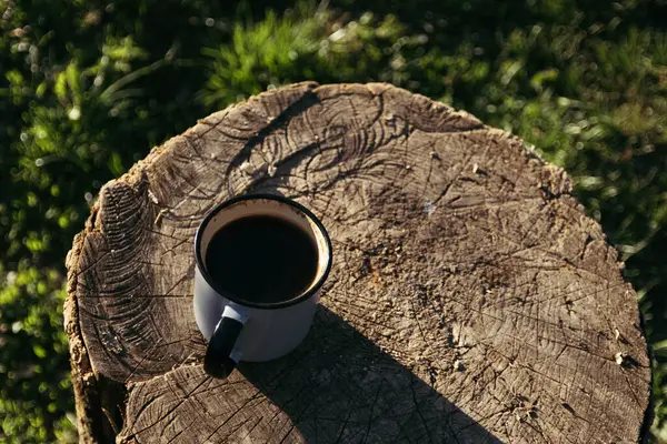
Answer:
[[[63,258],[101,184],[198,118],[300,80],[391,82],[564,167],[638,292],[667,442],[667,3],[273,8],[0,0],[0,442],[74,440]]]

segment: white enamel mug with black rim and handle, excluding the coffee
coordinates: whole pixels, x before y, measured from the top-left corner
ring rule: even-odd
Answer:
[[[226,292],[207,271],[203,258],[213,234],[242,218],[281,218],[301,229],[317,245],[317,271],[310,286],[273,303],[243,300]],[[195,239],[195,317],[209,342],[203,367],[227,377],[239,361],[263,362],[291,352],[303,341],[315,316],[322,284],[331,270],[331,241],[322,223],[305,206],[287,198],[249,194],[216,206],[201,222]],[[262,276],[257,276],[262,279]]]

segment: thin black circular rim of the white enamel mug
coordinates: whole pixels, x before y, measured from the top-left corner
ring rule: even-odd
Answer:
[[[240,297],[222,290],[220,287],[220,285],[211,278],[211,275],[209,274],[208,270],[205,266],[203,259],[201,258],[201,238],[203,235],[205,229],[208,226],[208,223],[211,221],[211,219],[213,219],[216,216],[216,214],[218,214],[220,211],[225,210],[226,208],[231,206],[238,202],[253,201],[253,200],[276,201],[276,202],[285,203],[287,205],[290,205],[290,206],[297,209],[298,211],[303,213],[308,219],[310,219],[317,225],[319,231],[322,233],[322,236],[325,238],[325,242],[327,242],[327,248],[329,249],[329,258],[327,261],[327,269],[325,270],[325,272],[322,273],[320,279],[318,279],[317,282],[307,292],[298,295],[297,297],[293,297],[293,299],[290,299],[287,301],[281,301],[281,302],[246,301],[243,299],[240,299]],[[319,255],[319,252],[318,252],[318,255]],[[322,224],[322,222],[319,219],[317,219],[317,216],[315,214],[312,214],[312,212],[310,210],[308,210],[306,206],[301,205],[299,202],[296,202],[291,199],[288,199],[288,198],[281,196],[281,195],[258,193],[258,194],[243,194],[243,195],[238,195],[236,198],[231,198],[222,203],[219,203],[211,211],[209,211],[208,214],[203,218],[203,220],[199,224],[199,228],[197,229],[197,234],[195,235],[195,256],[197,260],[197,269],[201,273],[201,276],[203,278],[206,283],[211,289],[213,289],[216,291],[216,293],[218,293],[220,296],[222,296],[231,302],[235,302],[241,306],[248,306],[251,309],[273,310],[273,309],[283,309],[287,306],[296,305],[299,302],[306,301],[306,300],[310,299],[311,296],[313,296],[322,287],[322,285],[325,284],[325,281],[327,280],[327,278],[329,275],[329,272],[331,271],[331,263],[334,262],[334,250],[331,248],[331,239],[329,239],[329,233],[327,232],[327,229],[325,229],[325,225]]]

